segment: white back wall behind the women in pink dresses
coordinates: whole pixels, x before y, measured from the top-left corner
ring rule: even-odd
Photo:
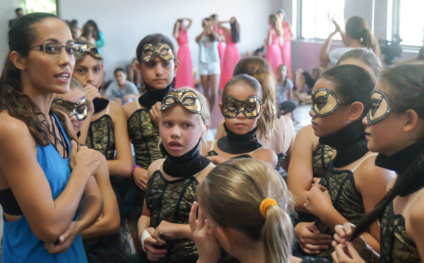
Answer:
[[[268,16],[280,3],[276,0],[73,0],[59,1],[61,18],[76,18],[80,26],[88,19],[98,23],[105,35],[105,57],[107,78],[117,66],[126,66],[136,57],[136,47],[148,34],[162,33],[175,42],[172,28],[179,17],[193,19],[189,29],[189,47],[192,51],[193,65],[197,66],[199,47],[196,35],[201,33],[201,19],[211,13],[217,13],[220,20],[229,20],[235,16],[240,23],[240,52],[256,49],[264,42]],[[81,8],[82,7],[82,8]],[[177,46],[176,46],[177,47]]]

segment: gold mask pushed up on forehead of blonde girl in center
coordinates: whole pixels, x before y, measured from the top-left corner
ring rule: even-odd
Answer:
[[[194,113],[201,113],[203,107],[193,90],[171,90],[162,101],[160,111],[172,107],[175,103],[180,103],[187,110]]]

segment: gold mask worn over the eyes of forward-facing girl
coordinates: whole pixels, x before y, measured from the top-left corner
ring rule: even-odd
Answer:
[[[261,100],[257,96],[250,96],[246,100],[237,100],[232,95],[228,95],[221,105],[221,112],[228,119],[236,117],[240,112],[243,112],[248,119],[254,119],[259,116],[261,110]]]

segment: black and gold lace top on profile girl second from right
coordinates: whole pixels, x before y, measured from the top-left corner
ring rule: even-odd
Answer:
[[[324,176],[319,182],[319,185],[329,190],[331,202],[338,213],[353,224],[358,223],[360,218],[365,215],[363,198],[356,189],[353,173],[355,173],[356,169],[371,156],[377,156],[377,153],[371,153],[364,156],[352,170],[334,170],[333,162],[331,162],[329,169],[326,170],[326,173],[324,173]],[[317,226],[319,231],[323,234],[334,234],[334,230],[322,223],[319,218],[315,219],[315,226]],[[334,252],[334,247],[322,251],[317,257],[331,257],[332,252]]]

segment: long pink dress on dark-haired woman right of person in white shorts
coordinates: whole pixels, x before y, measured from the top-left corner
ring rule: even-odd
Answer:
[[[225,83],[232,78],[232,71],[234,71],[235,65],[237,65],[240,60],[240,52],[238,51],[237,43],[232,42],[231,30],[225,35],[225,44],[224,62],[219,82],[220,90],[223,90]]]

